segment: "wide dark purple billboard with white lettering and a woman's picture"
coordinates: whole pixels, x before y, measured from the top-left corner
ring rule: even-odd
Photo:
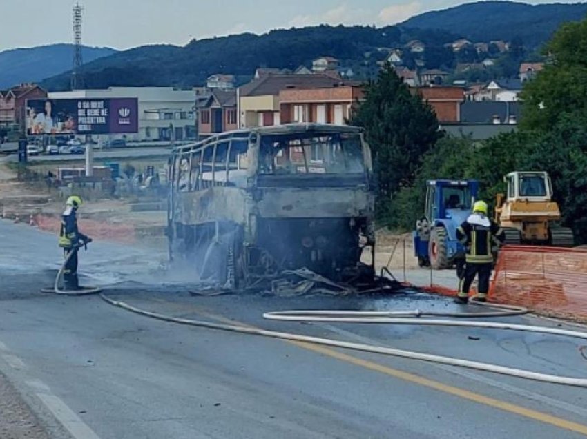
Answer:
[[[31,99],[26,101],[28,135],[133,134],[138,99]]]

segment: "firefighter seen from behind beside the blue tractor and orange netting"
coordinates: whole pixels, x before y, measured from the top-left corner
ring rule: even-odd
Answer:
[[[487,301],[489,280],[493,265],[493,244],[501,244],[505,239],[505,233],[499,225],[487,216],[487,203],[478,201],[473,206],[473,213],[459,228],[456,229],[456,237],[467,249],[465,266],[458,272],[459,292],[454,302],[466,304],[469,301],[469,289],[477,275],[478,294],[474,300]]]

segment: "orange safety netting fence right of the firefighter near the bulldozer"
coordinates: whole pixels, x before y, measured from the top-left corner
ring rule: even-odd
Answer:
[[[505,246],[490,300],[546,315],[587,319],[587,251],[577,248]]]

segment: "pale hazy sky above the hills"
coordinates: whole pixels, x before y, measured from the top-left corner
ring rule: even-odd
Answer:
[[[557,0],[575,3],[577,0]],[[526,3],[553,3],[535,0]],[[75,0],[0,0],[0,51],[73,39]],[[184,46],[191,39],[263,33],[274,28],[320,23],[385,26],[428,10],[456,6],[459,0],[80,0],[83,42],[127,49],[146,44]],[[28,11],[28,12],[26,12]],[[26,14],[23,16],[23,12]]]

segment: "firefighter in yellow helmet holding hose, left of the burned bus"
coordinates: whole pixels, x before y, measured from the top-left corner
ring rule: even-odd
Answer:
[[[92,240],[80,233],[77,228],[77,209],[84,204],[81,197],[72,195],[67,199],[66,209],[61,218],[59,228],[59,246],[64,249],[64,256],[69,257],[64,268],[65,289],[75,291],[79,289],[77,280],[77,251],[79,247],[92,242]]]

